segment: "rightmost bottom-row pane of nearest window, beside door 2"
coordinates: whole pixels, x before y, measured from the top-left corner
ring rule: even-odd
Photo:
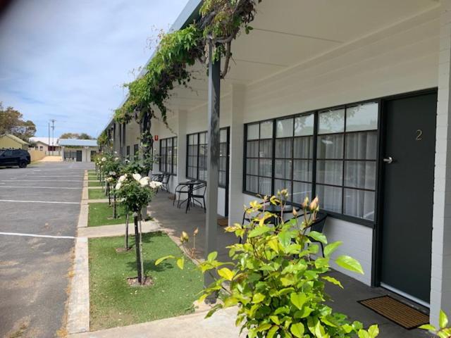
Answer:
[[[366,220],[374,220],[374,192],[345,189],[343,213]]]

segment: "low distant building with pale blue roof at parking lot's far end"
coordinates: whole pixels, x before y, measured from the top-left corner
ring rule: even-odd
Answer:
[[[63,161],[91,162],[99,151],[97,139],[58,139]]]

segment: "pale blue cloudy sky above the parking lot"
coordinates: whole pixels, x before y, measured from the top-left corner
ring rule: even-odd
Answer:
[[[1,1],[1,0],[0,0]],[[0,17],[0,101],[35,136],[97,137],[187,0],[16,0]]]

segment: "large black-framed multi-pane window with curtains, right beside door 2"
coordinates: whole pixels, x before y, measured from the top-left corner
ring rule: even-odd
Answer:
[[[274,135],[262,128],[272,123]],[[315,194],[326,211],[373,221],[377,129],[378,102],[249,123],[245,192],[269,195],[287,188],[296,204]]]

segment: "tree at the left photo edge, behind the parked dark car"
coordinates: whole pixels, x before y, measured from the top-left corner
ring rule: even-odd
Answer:
[[[23,120],[20,111],[16,111],[11,106],[4,108],[0,102],[0,134],[13,134],[27,142],[30,137],[35,135],[35,132],[35,123],[31,120]]]

